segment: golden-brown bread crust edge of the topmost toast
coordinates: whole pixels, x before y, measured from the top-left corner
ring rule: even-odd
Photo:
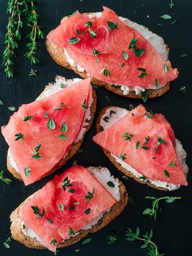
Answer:
[[[85,15],[89,15],[91,13],[84,13]],[[61,19],[61,23],[69,18],[70,16],[66,16]],[[46,48],[48,53],[50,53],[50,56],[52,59],[62,67],[65,67],[66,69],[72,69],[77,75],[80,75],[82,78],[88,78],[88,74],[86,70],[83,72],[80,72],[77,67],[73,67],[69,64],[69,62],[66,59],[66,54],[64,53],[64,50],[61,48],[58,48],[53,42],[51,42],[49,39],[46,39]],[[169,52],[169,48],[166,45],[166,49]],[[128,94],[123,94],[123,91],[120,89],[115,88],[110,83],[102,82],[101,80],[98,80],[96,78],[91,77],[91,82],[96,83],[98,86],[104,87],[105,89],[112,91],[115,94],[118,94],[123,97],[129,97],[133,99],[142,99],[142,94],[136,94],[135,91],[129,91]],[[155,98],[155,97],[161,97],[162,95],[166,94],[167,91],[169,91],[169,83],[166,83],[166,85],[160,89],[153,90],[153,89],[147,89],[149,98]]]

